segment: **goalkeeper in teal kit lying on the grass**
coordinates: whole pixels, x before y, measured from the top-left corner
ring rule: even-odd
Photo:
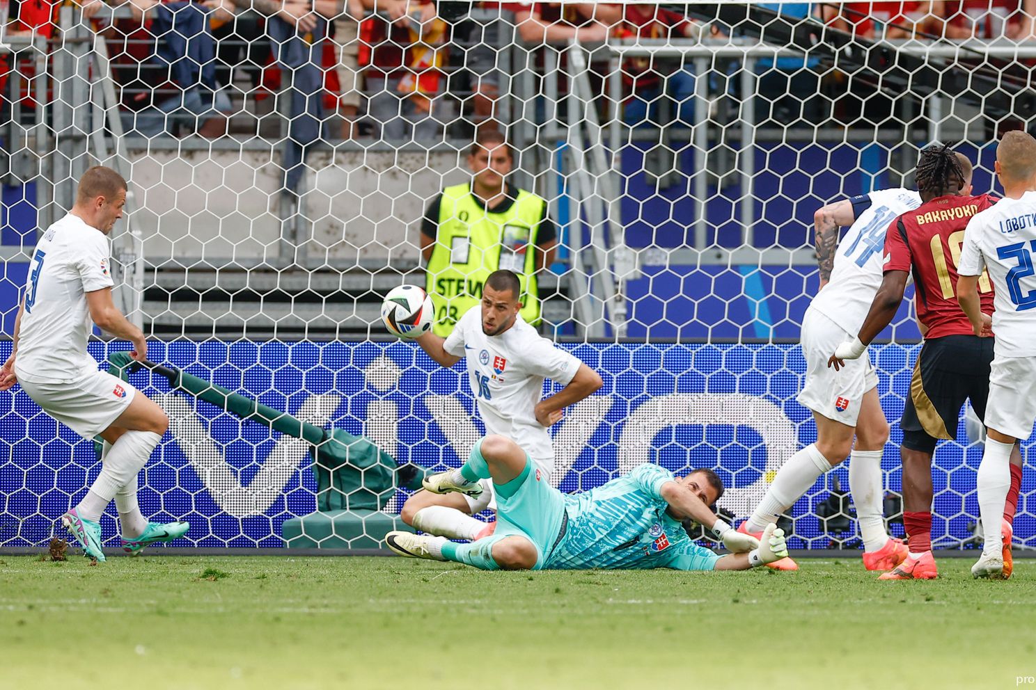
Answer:
[[[480,479],[492,479],[496,531],[469,544],[445,537],[390,532],[400,556],[454,561],[482,570],[672,568],[747,570],[787,556],[783,532],[770,524],[761,543],[710,510],[723,492],[710,470],[677,479],[657,464],[583,493],[565,494],[550,485],[516,443],[488,436],[471,449],[460,470],[425,479],[434,493],[478,496]],[[718,556],[695,545],[682,520],[703,524],[733,553]]]

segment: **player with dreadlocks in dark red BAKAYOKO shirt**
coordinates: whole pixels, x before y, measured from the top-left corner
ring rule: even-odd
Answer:
[[[924,335],[911,381],[911,395],[899,423],[903,441],[903,527],[910,554],[880,579],[932,579],[939,570],[931,554],[931,457],[940,439],[953,439],[966,399],[979,419],[985,415],[992,361],[992,288],[985,273],[979,279],[985,328],[975,335],[971,321],[956,300],[957,269],[965,228],[996,199],[972,196],[972,164],[947,146],[929,146],[921,152],[915,171],[921,206],[892,221],[885,238],[885,275],[856,338],[842,342],[829,366],[838,369],[846,359],[857,359],[867,344],[895,317],[903,299],[906,278],[913,273],[917,318]],[[1012,463],[1020,469],[1015,449]],[[1017,474],[1020,480],[1020,473]],[[1011,517],[1019,483],[1012,482],[1007,503]],[[1010,538],[1004,540],[1004,570],[1010,572]]]

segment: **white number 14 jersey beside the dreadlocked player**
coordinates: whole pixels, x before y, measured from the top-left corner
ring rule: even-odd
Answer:
[[[859,332],[882,284],[885,234],[897,216],[921,205],[921,196],[904,188],[871,191],[870,208],[860,214],[835,252],[831,280],[813,298],[810,308],[845,332]]]

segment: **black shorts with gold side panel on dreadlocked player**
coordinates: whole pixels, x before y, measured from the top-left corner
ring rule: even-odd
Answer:
[[[955,439],[965,400],[972,401],[979,419],[985,417],[992,346],[992,338],[976,335],[925,340],[899,422],[904,448],[930,453],[939,439]]]

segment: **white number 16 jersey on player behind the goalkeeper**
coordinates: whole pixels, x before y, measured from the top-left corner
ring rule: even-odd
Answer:
[[[579,360],[555,348],[520,314],[501,334],[486,335],[481,306],[461,317],[442,348],[467,360],[471,394],[479,401],[487,433],[508,437],[538,467],[552,472],[553,441],[546,427],[536,421],[535,408],[543,399],[544,379],[568,386],[579,369]]]

